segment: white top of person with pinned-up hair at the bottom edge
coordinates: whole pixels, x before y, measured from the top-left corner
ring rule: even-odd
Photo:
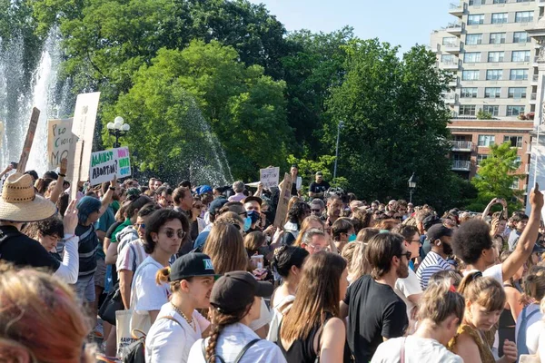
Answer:
[[[399,363],[403,339],[405,338],[393,338],[381,343],[372,356],[371,363]],[[435,339],[409,336],[405,340],[405,362],[463,363],[463,359]]]

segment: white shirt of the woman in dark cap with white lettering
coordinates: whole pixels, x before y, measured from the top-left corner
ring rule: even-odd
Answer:
[[[173,317],[180,324],[171,319]],[[186,363],[193,343],[202,338],[203,331],[210,326],[196,310],[192,314],[196,330],[173,309],[170,302],[163,305],[157,319],[145,338],[146,363]]]

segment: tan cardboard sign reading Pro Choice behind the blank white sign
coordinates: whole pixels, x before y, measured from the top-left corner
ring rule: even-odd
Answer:
[[[66,158],[66,180],[74,175],[74,154],[77,138],[72,133],[74,119],[49,120],[47,122],[47,170],[54,170]]]

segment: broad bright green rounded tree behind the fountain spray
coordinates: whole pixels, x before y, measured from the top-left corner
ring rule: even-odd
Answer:
[[[173,157],[194,157],[193,150],[203,143],[188,129],[210,122],[233,174],[252,179],[263,165],[279,165],[286,158],[291,130],[286,123],[285,83],[236,58],[233,48],[217,42],[195,41],[183,51],[160,50],[104,120],[127,115],[132,128],[126,140],[142,166],[155,172],[173,165]],[[198,121],[186,114],[188,100],[203,110]],[[161,152],[155,154],[157,148]]]

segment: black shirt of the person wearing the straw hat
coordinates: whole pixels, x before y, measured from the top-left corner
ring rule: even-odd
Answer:
[[[17,231],[15,227],[0,226],[0,231],[11,235],[0,242],[0,260],[12,262],[15,266],[45,267],[52,272],[61,266],[61,262],[45,250],[40,242]]]

